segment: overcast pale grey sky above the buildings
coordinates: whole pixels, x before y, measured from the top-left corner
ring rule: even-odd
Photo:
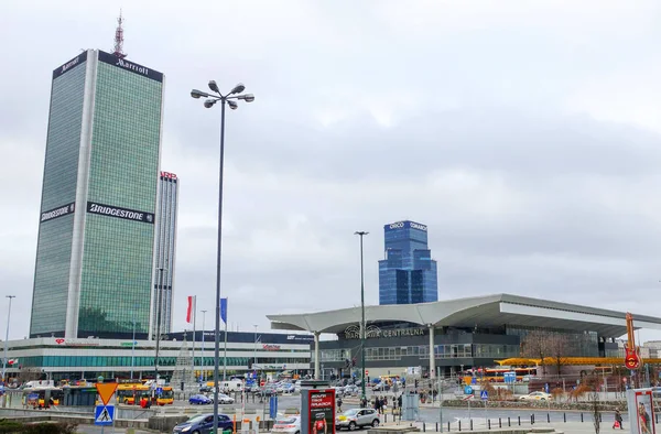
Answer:
[[[52,69],[112,50],[166,75],[162,170],[181,178],[174,328],[223,291],[236,328],[378,303],[383,225],[429,225],[438,296],[661,316],[659,1],[20,1],[0,34],[0,295],[29,333]],[[7,299],[0,300],[4,337]],[[213,315],[207,315],[212,328]],[[643,338],[661,338],[643,333]]]

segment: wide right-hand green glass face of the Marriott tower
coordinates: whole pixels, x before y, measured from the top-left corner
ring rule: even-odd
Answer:
[[[88,203],[155,213],[162,83],[98,63]],[[87,213],[78,335],[149,329],[154,221]]]

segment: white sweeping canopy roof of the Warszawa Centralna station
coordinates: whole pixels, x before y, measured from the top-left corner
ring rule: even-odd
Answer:
[[[272,329],[342,333],[360,323],[360,306],[295,315],[267,315]],[[510,294],[444,300],[420,304],[365,306],[369,324],[402,322],[435,327],[499,327],[519,325],[620,337],[626,313]],[[636,328],[661,329],[661,318],[633,314]]]

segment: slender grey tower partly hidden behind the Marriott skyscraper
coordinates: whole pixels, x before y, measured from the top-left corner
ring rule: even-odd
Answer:
[[[174,265],[176,259],[176,220],[178,214],[180,180],[174,173],[161,172],[159,178],[159,203],[156,223],[156,275],[154,276],[152,332],[155,336],[161,305],[161,334],[172,332],[172,296]],[[161,271],[163,274],[161,275]],[[162,278],[162,281],[161,281]]]

